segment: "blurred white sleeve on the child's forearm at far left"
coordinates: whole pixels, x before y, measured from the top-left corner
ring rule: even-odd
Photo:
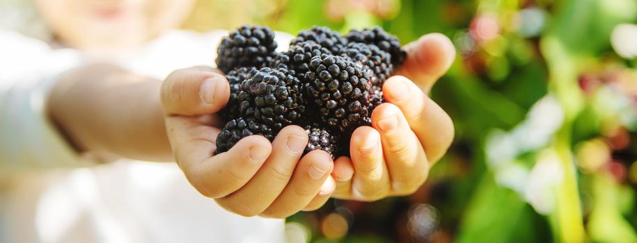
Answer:
[[[49,121],[47,93],[79,54],[0,31],[0,177],[29,169],[86,166]]]

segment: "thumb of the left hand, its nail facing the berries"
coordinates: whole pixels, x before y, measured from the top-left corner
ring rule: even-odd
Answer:
[[[230,85],[213,69],[191,67],[168,76],[162,84],[161,99],[168,115],[206,115],[226,106]]]

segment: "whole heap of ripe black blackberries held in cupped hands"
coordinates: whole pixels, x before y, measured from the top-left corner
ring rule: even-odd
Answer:
[[[219,114],[227,124],[215,154],[249,135],[272,141],[294,124],[308,133],[306,153],[347,156],[352,132],[370,126],[384,81],[407,58],[398,38],[379,27],[342,36],[315,26],[301,31],[288,51],[276,47],[265,26],[241,26],[221,40],[217,67],[230,83],[230,100]]]

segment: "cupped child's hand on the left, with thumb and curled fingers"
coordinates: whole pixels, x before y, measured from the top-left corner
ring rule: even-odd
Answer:
[[[173,155],[188,181],[226,210],[239,215],[288,217],[320,208],[335,189],[331,157],[315,150],[301,158],[308,136],[287,126],[272,143],[244,137],[230,151],[212,156],[223,122],[226,78],[209,67],[173,72],[162,85],[162,106]]]

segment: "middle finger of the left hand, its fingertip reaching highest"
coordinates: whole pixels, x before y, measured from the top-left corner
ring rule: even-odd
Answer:
[[[217,203],[239,215],[259,215],[288,185],[307,143],[303,128],[286,126],[274,138],[272,153],[254,177],[237,192],[217,199]]]

